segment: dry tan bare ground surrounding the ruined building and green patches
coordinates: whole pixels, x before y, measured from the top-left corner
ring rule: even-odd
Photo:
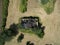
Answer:
[[[6,45],[25,45],[26,41],[32,41],[35,45],[53,44],[60,45],[60,0],[56,1],[54,12],[47,15],[43,8],[39,6],[37,0],[28,0],[28,11],[22,14],[19,11],[19,0],[10,0],[8,17],[6,22],[6,28],[12,23],[18,23],[18,20],[22,16],[38,16],[41,18],[41,22],[45,26],[45,36],[43,39],[39,39],[35,35],[25,34],[25,38],[22,43],[17,43],[15,37],[11,42]],[[19,35],[19,34],[18,34]],[[17,35],[17,36],[18,36]]]

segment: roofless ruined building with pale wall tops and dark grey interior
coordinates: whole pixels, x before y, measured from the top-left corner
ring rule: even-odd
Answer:
[[[38,27],[38,17],[22,17],[21,18],[21,25],[24,28],[35,28]]]

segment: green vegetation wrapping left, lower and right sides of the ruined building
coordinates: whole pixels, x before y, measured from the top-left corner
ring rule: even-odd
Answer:
[[[35,28],[24,28],[24,27],[22,27],[20,22],[18,23],[17,27],[21,32],[36,34],[40,38],[43,38],[43,36],[44,36],[45,26],[42,26],[42,24],[40,22],[39,22],[38,27],[35,27]]]

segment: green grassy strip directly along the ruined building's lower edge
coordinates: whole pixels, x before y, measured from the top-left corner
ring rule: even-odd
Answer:
[[[23,33],[29,33],[29,34],[35,34],[39,38],[43,38],[44,32],[41,29],[20,29],[21,32]]]

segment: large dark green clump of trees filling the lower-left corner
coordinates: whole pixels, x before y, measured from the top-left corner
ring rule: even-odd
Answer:
[[[10,41],[17,34],[17,26],[15,24],[12,24],[9,29],[2,31],[0,34],[0,45],[4,45],[6,41]]]

